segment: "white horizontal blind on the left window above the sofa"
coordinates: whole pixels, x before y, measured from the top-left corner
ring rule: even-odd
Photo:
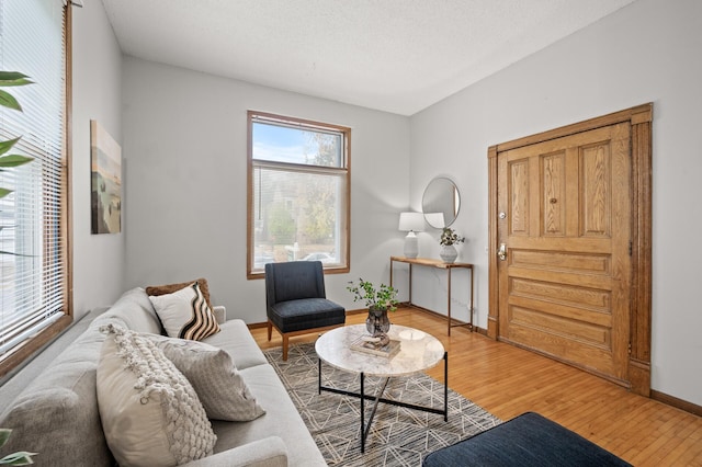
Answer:
[[[34,158],[0,172],[0,361],[65,312],[65,16],[63,0],[0,2],[0,68],[34,82],[4,88],[23,112],[0,107],[0,138]]]

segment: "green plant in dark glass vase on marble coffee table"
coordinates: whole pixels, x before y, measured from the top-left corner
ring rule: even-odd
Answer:
[[[353,294],[353,301],[363,301],[369,307],[365,329],[374,338],[380,338],[381,342],[388,340],[386,333],[390,329],[390,320],[387,311],[397,309],[397,289],[385,284],[376,287],[362,278],[359,278],[358,284],[349,282],[347,289]]]

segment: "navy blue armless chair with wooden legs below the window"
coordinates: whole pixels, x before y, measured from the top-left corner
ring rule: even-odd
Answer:
[[[265,264],[268,340],[273,328],[283,337],[283,360],[288,339],[326,331],[346,322],[346,309],[327,299],[320,261]]]

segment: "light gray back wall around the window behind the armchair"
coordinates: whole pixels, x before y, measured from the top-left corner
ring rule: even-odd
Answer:
[[[327,296],[361,308],[347,282],[387,281],[409,194],[409,118],[124,58],[126,286],[206,277],[215,304],[265,321],[264,282],[246,278],[247,110],[351,127],[351,273]]]

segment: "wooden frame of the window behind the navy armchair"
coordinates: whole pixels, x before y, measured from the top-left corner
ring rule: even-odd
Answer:
[[[301,129],[309,129],[312,132],[335,132],[343,135],[343,155],[342,155],[342,168],[336,169],[337,171],[346,172],[346,214],[344,226],[341,229],[343,239],[340,241],[344,244],[343,258],[340,258],[341,264],[325,264],[322,269],[325,274],[341,274],[348,273],[351,269],[351,128],[315,122],[305,118],[297,118],[291,116],[284,116],[279,114],[272,114],[267,112],[247,111],[247,254],[246,254],[246,274],[248,280],[263,278],[265,276],[264,271],[253,267],[254,258],[254,182],[253,171],[257,167],[276,167],[280,170],[285,171],[288,168],[290,172],[303,172],[303,173],[318,173],[319,170],[315,169],[315,166],[309,166],[306,170],[304,164],[294,164],[285,162],[265,161],[260,166],[256,163],[253,159],[253,123],[260,121],[272,125],[279,124],[287,127],[299,127]]]

